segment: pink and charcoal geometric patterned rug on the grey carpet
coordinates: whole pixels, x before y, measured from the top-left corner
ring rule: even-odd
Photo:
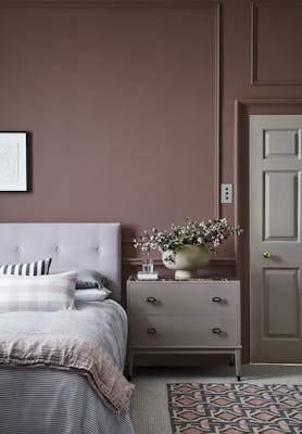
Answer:
[[[167,384],[173,434],[302,434],[302,386]]]

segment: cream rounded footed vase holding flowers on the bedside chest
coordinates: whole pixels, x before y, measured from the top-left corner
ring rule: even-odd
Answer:
[[[176,280],[188,280],[196,278],[198,270],[210,263],[210,253],[204,247],[188,244],[177,252],[163,252],[162,260],[166,268],[175,270]]]

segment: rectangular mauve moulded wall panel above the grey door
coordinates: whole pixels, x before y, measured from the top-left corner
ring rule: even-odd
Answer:
[[[252,85],[302,85],[301,22],[301,0],[252,2]]]

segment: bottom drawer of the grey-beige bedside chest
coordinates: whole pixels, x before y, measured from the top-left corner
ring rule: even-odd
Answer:
[[[236,346],[239,345],[234,317],[131,316],[130,346]]]

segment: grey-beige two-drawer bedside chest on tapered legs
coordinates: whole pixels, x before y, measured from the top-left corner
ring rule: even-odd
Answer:
[[[128,370],[139,353],[234,354],[240,378],[240,283],[196,279],[127,282]]]

